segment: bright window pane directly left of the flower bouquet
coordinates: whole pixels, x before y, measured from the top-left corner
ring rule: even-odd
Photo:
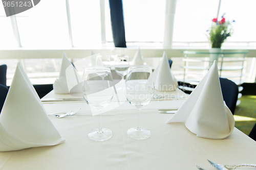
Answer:
[[[187,45],[185,42],[208,42],[206,30],[211,19],[217,15],[218,1],[177,0],[174,20],[174,46]],[[206,45],[206,44],[199,44]]]

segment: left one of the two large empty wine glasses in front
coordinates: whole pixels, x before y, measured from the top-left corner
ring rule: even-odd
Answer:
[[[112,136],[110,129],[101,127],[101,109],[108,106],[114,95],[113,78],[110,68],[86,68],[82,86],[83,98],[88,105],[99,112],[99,129],[91,131],[88,136],[94,141],[108,140]]]

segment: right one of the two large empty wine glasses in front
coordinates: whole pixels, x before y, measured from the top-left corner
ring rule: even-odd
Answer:
[[[127,101],[138,109],[138,126],[127,131],[129,137],[137,140],[150,137],[150,130],[140,127],[140,110],[150,104],[154,94],[152,68],[130,67],[125,79],[125,96]]]

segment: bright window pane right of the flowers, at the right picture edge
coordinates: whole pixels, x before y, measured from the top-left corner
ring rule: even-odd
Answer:
[[[255,46],[256,23],[254,18],[256,1],[254,0],[222,0],[220,16],[223,13],[225,18],[233,23],[233,34],[227,38],[226,46]],[[237,43],[230,43],[237,42]],[[223,44],[225,45],[225,44]]]

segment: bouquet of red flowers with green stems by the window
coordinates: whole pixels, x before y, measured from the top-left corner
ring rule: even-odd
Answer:
[[[234,22],[234,20],[233,20]],[[211,43],[212,48],[220,48],[222,43],[226,40],[227,37],[231,35],[232,27],[229,21],[226,21],[224,15],[221,17],[221,20],[218,21],[218,18],[212,19],[212,24],[208,38]]]

